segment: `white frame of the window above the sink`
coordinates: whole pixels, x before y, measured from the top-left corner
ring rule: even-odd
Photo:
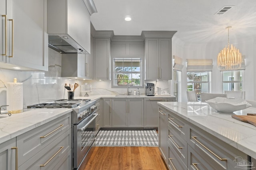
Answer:
[[[115,85],[115,74],[117,73],[115,71],[115,60],[116,59],[123,59],[123,60],[127,60],[127,59],[137,59],[137,60],[140,60],[140,71],[130,71],[130,72],[127,72],[127,73],[136,73],[136,74],[140,74],[140,86],[129,86],[129,88],[144,88],[144,81],[143,81],[143,68],[142,68],[142,65],[143,65],[143,58],[141,57],[124,57],[124,56],[115,56],[112,58],[112,88],[127,88],[127,86],[118,86],[118,85]],[[123,73],[123,72],[120,72],[120,73]],[[130,79],[129,79],[130,80]]]

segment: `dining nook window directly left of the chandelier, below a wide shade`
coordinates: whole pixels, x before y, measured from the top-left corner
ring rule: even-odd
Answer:
[[[210,72],[187,72],[187,91],[196,91],[198,98],[201,92],[210,90]]]

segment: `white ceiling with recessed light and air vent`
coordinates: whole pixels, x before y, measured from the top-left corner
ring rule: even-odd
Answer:
[[[185,43],[208,43],[232,39],[256,39],[255,0],[94,0],[97,13],[91,22],[96,30],[114,35],[141,35],[141,31],[177,31]],[[233,6],[214,15],[224,6]],[[130,16],[131,21],[125,21]]]

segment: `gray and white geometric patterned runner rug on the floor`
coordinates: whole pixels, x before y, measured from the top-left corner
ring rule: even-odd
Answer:
[[[156,130],[100,130],[96,147],[158,147]]]

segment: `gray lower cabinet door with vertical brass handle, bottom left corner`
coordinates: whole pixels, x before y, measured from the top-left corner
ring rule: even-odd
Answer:
[[[16,138],[10,139],[0,144],[0,169],[15,170],[16,169]]]

